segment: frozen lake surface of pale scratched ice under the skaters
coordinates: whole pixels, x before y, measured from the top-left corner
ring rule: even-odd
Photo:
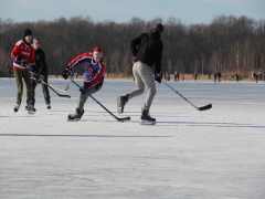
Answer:
[[[82,84],[82,81],[77,81]],[[165,84],[151,106],[156,126],[139,124],[146,94],[124,115],[117,96],[132,81],[106,80],[96,97],[118,123],[88,98],[80,122],[67,122],[78,88],[50,80],[72,98],[50,90],[46,109],[36,87],[36,115],[14,114],[15,81],[0,78],[0,198],[265,198],[265,83],[170,82],[199,112]]]

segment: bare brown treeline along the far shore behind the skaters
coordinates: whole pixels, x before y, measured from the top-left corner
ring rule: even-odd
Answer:
[[[103,49],[107,73],[131,75],[130,41],[159,22],[165,25],[163,71],[199,74],[265,71],[265,19],[244,15],[218,15],[210,24],[190,25],[173,17],[166,21],[132,18],[127,23],[94,22],[89,17],[22,23],[0,18],[0,69],[4,73],[12,70],[10,52],[29,28],[33,38],[41,39],[49,74],[61,74],[74,56],[98,45]],[[83,73],[81,66],[76,71]]]

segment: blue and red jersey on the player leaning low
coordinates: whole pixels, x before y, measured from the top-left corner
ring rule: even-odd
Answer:
[[[100,61],[96,63],[93,60],[93,53],[86,52],[74,57],[67,64],[67,66],[70,69],[74,69],[81,63],[85,64],[85,75],[84,75],[85,83],[91,84],[91,86],[95,86],[98,83],[104,82],[105,63],[103,59],[100,59]]]

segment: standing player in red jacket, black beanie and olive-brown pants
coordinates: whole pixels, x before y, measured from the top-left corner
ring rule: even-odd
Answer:
[[[23,94],[23,82],[24,80],[26,87],[26,106],[29,113],[35,112],[34,105],[32,103],[32,86],[29,70],[38,77],[39,73],[35,66],[35,52],[31,45],[32,32],[30,29],[24,31],[24,36],[22,40],[18,41],[11,52],[11,57],[13,59],[13,72],[17,81],[17,104],[13,108],[17,113],[20,108]],[[30,69],[29,69],[30,67]]]

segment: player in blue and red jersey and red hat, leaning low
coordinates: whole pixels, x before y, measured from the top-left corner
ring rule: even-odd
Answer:
[[[68,121],[80,121],[84,114],[84,104],[87,100],[86,93],[98,92],[104,82],[105,63],[102,49],[96,46],[94,52],[86,52],[73,59],[63,71],[62,76],[66,80],[74,67],[85,63],[84,84],[80,88],[80,97],[75,113],[68,115]]]

